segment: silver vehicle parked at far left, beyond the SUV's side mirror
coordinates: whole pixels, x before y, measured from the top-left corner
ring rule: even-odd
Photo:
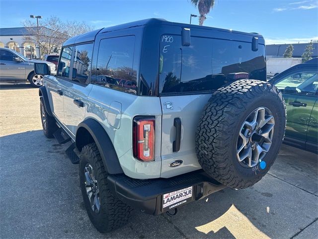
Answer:
[[[34,63],[45,63],[49,66],[51,74],[56,74],[54,64],[41,60],[29,60],[20,53],[9,48],[0,48],[0,82],[26,82],[33,87],[42,86],[42,75],[34,73]]]

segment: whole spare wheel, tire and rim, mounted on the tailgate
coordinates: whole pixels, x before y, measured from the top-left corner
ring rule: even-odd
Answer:
[[[266,127],[261,127],[266,120]],[[229,187],[250,187],[274,163],[285,126],[285,102],[275,86],[257,80],[233,82],[213,93],[203,110],[195,142],[199,163],[206,173]],[[261,152],[259,146],[267,152]]]

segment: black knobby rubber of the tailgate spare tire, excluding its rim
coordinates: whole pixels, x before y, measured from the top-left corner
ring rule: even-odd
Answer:
[[[254,185],[269,170],[274,160],[253,180],[244,180],[237,174],[231,160],[227,159],[230,143],[231,125],[246,111],[244,102],[251,102],[264,94],[276,95],[285,112],[282,93],[273,85],[258,80],[239,80],[224,86],[213,93],[205,106],[196,131],[196,154],[201,167],[219,182],[236,189]],[[248,110],[248,109],[247,109]],[[252,110],[252,109],[251,109]],[[284,134],[284,133],[283,133]],[[281,140],[283,140],[283,136]],[[275,154],[275,158],[278,150]]]

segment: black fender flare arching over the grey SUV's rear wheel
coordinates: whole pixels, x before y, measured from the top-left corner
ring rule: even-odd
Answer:
[[[101,124],[95,119],[85,119],[81,123],[79,123],[76,138],[78,136],[78,132],[80,128],[85,128],[93,140],[95,141],[97,148],[99,150],[100,156],[103,160],[104,166],[106,167],[109,174],[120,174],[124,173],[123,169],[120,166],[117,153],[115,151],[114,145],[110,140],[108,134],[105,129],[101,126]],[[76,139],[75,143],[79,150],[81,150],[81,145],[78,143],[79,141]],[[107,155],[107,156],[106,156]]]

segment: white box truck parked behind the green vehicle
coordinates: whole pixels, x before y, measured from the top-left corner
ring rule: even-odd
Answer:
[[[267,58],[266,68],[267,77],[273,77],[277,74],[302,63],[302,58]]]

